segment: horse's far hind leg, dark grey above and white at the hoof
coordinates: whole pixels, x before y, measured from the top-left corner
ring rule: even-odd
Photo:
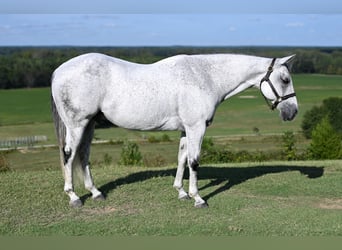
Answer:
[[[83,133],[78,153],[82,166],[84,186],[87,190],[89,190],[92,193],[92,198],[96,201],[99,201],[104,200],[105,198],[102,195],[102,193],[95,187],[89,166],[90,145],[94,135],[94,127],[95,120],[91,120]]]

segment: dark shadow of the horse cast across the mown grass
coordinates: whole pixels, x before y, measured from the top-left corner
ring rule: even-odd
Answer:
[[[274,166],[250,166],[250,167],[215,167],[215,166],[201,166],[199,168],[198,179],[199,180],[210,180],[210,182],[199,190],[205,190],[207,188],[226,183],[225,185],[220,185],[217,189],[212,191],[203,197],[204,200],[209,200],[210,198],[229,190],[230,188],[239,185],[245,181],[255,179],[267,174],[283,173],[283,172],[293,172],[298,171],[302,175],[307,176],[307,178],[319,178],[324,174],[324,167],[318,166],[286,166],[286,165],[274,165]],[[162,170],[142,170],[137,173],[129,174],[125,177],[110,181],[101,187],[99,190],[102,194],[107,197],[108,194],[121,185],[128,185],[131,183],[142,182],[156,177],[169,177],[175,176],[176,168],[162,169]],[[184,174],[184,179],[188,179],[188,171]],[[84,202],[91,195],[86,194],[81,197]]]

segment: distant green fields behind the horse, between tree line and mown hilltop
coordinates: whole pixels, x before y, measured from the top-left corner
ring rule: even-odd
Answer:
[[[297,148],[304,149],[309,143],[300,134],[305,111],[325,98],[342,96],[342,76],[294,75],[293,78],[299,102],[299,114],[294,121],[282,122],[278,111],[268,109],[258,90],[249,89],[221,104],[206,136],[214,137],[215,143],[228,145],[232,150],[267,151],[279,149],[280,136],[284,131],[293,131],[298,133]],[[254,132],[256,128],[258,134]],[[168,134],[172,142],[146,144],[146,138],[163,133]],[[0,140],[32,135],[47,136],[48,140],[41,145],[56,144],[50,114],[50,89],[0,90]],[[162,155],[166,164],[176,162],[178,138],[179,132],[138,132],[121,128],[95,131],[97,140],[139,141],[143,154]],[[120,152],[121,145],[94,146],[91,161],[99,163],[108,154],[116,163]],[[20,170],[56,169],[59,162],[56,148],[13,151],[8,159],[11,168]]]

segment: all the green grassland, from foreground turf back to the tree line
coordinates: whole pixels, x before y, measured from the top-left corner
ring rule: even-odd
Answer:
[[[297,147],[305,147],[308,141],[300,134],[305,111],[342,96],[342,76],[293,78],[300,109],[295,121],[282,122],[260,93],[249,89],[219,107],[207,136],[232,149],[267,152],[279,148],[280,136],[290,130]],[[178,201],[172,189],[179,132],[166,132],[171,142],[147,142],[163,133],[96,130],[96,140],[135,140],[144,156],[160,155],[165,163],[118,166],[121,145],[93,145],[93,175],[107,199],[95,203],[77,187],[85,205],[76,210],[63,193],[56,147],[7,152],[14,171],[0,173],[0,235],[342,235],[341,160],[201,166],[199,188],[210,208],[198,210],[193,201]],[[42,146],[56,143],[50,90],[0,90],[0,140],[31,135],[46,135]]]

